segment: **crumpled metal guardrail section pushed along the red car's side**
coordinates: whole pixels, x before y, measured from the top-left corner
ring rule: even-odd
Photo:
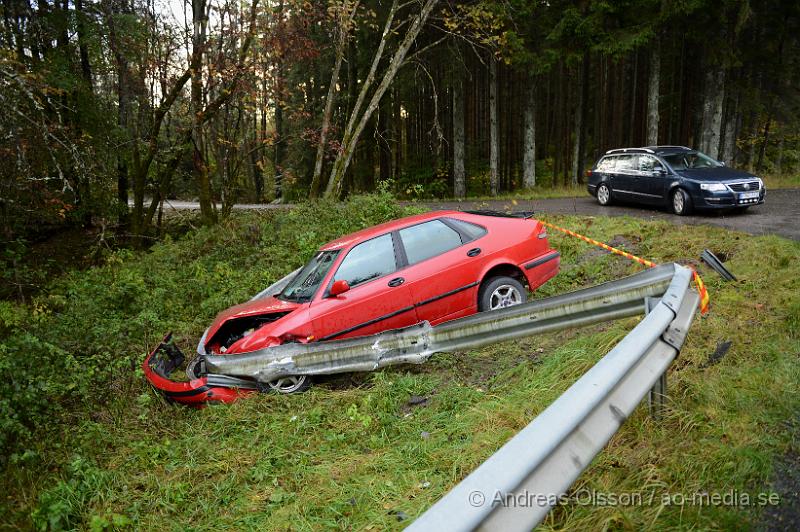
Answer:
[[[675,279],[685,280],[690,275],[691,271],[681,266],[663,265],[591,288],[474,314],[436,327],[423,322],[347,340],[290,343],[235,355],[201,355],[201,362],[195,367],[210,381],[223,379],[235,383],[235,379],[241,379],[242,387],[252,388],[253,380],[266,383],[293,375],[373,371],[392,364],[419,364],[434,353],[635,316],[644,311],[646,298],[660,297],[665,291],[670,294],[668,288]]]

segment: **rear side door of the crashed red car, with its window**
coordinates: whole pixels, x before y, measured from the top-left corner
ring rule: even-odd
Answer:
[[[437,324],[477,304],[486,229],[439,218],[398,231],[408,266],[400,272],[417,306],[417,318]]]

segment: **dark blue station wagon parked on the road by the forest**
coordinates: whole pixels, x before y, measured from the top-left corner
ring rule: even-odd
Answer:
[[[693,210],[744,211],[764,203],[764,182],[684,146],[607,151],[587,172],[589,193],[600,205],[615,200]]]

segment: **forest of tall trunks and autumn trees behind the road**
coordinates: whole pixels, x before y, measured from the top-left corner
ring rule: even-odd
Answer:
[[[610,148],[800,166],[792,0],[2,0],[0,219],[577,186]]]

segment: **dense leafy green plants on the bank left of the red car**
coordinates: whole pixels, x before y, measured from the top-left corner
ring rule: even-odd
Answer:
[[[142,389],[139,364],[167,331],[197,338],[213,316],[302,265],[318,246],[403,214],[385,190],[348,203],[243,215],[147,253],[119,250],[30,305],[0,304],[0,450],[76,408]]]

